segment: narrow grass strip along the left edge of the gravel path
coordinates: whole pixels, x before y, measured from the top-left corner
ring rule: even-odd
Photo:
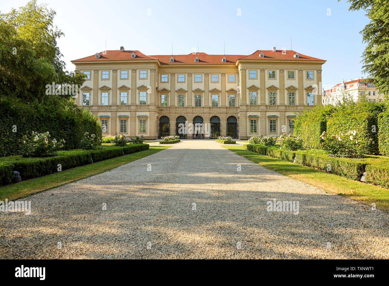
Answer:
[[[56,172],[54,174],[21,181],[16,184],[2,186],[0,187],[0,200],[4,201],[5,198],[7,198],[8,200],[13,200],[15,198],[24,197],[32,193],[61,186],[63,184],[77,181],[79,179],[84,179],[86,177],[119,167],[128,162],[157,153],[169,147],[172,146],[150,146],[149,149],[144,151],[119,156],[104,161],[99,161],[90,165],[71,168],[62,172]]]

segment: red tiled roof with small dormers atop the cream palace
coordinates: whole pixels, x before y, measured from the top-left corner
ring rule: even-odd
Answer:
[[[136,57],[131,58],[132,52],[135,53]],[[259,53],[263,52],[264,57],[260,58]],[[235,64],[237,60],[293,60],[293,61],[325,61],[319,58],[306,56],[299,54],[298,58],[294,58],[295,51],[289,50],[282,53],[283,50],[271,51],[256,51],[250,55],[242,54],[206,54],[206,53],[190,53],[190,54],[176,54],[176,55],[153,55],[146,56],[140,51],[124,51],[120,50],[107,51],[106,54],[99,53],[100,58],[93,56],[87,56],[74,61],[121,61],[121,60],[159,60],[161,65],[231,65]],[[174,61],[170,62],[170,58],[173,56]],[[195,58],[198,57],[198,62],[195,62]],[[226,61],[223,62],[223,57]]]

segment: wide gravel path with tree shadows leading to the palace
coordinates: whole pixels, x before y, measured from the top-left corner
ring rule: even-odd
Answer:
[[[273,199],[298,214],[266,211]],[[0,212],[0,258],[389,258],[388,213],[210,140],[26,200],[30,215]]]

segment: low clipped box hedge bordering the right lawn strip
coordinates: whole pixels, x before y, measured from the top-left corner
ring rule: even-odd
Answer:
[[[289,151],[253,144],[245,144],[243,148],[356,181],[360,181],[366,171],[366,182],[389,188],[389,158],[384,156],[367,156],[364,159],[331,158],[325,151],[317,149]]]

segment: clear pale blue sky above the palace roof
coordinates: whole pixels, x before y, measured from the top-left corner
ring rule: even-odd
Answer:
[[[25,5],[3,0],[0,11]],[[42,3],[38,1],[38,3]],[[296,1],[119,1],[46,0],[57,12],[58,41],[68,70],[70,60],[105,50],[140,50],[145,54],[247,54],[257,49],[292,48],[327,60],[323,87],[361,73],[364,50],[359,31],[368,23],[364,11],[349,12],[342,0]],[[238,16],[240,9],[241,16]],[[327,16],[331,9],[330,16]],[[149,15],[148,15],[149,14]]]

